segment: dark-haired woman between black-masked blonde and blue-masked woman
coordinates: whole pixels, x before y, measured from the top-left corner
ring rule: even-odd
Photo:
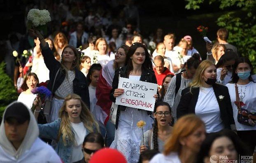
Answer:
[[[232,79],[232,71],[235,60],[237,59],[237,54],[231,50],[227,49],[225,54],[221,56],[217,68],[217,83],[223,84],[224,86]]]

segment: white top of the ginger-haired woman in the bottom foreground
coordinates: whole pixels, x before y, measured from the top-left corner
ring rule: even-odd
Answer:
[[[164,154],[156,154],[149,163],[181,163],[179,155],[176,152],[171,152],[167,156]]]

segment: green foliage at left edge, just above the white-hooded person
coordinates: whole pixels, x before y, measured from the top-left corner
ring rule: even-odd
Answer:
[[[0,63],[0,116],[5,107],[18,99],[12,79],[5,73],[5,63]]]

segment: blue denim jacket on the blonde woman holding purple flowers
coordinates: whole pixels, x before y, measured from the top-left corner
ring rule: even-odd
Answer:
[[[39,137],[57,140],[58,131],[61,127],[61,119],[44,125],[37,124],[39,128]],[[86,132],[89,133],[88,129]],[[64,163],[71,163],[73,143],[67,140],[67,145],[64,145],[62,137],[58,140],[55,151],[61,157]]]

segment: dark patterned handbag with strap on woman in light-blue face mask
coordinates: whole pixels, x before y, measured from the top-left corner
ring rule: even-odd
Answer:
[[[235,96],[238,113],[237,113],[237,121],[243,125],[247,126],[255,126],[256,125],[256,112],[249,111],[247,109],[242,109],[240,104],[240,98],[238,95],[237,84],[235,84]]]

